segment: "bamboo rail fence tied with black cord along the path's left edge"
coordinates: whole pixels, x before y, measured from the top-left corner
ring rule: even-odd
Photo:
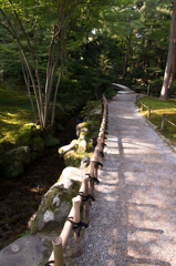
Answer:
[[[82,254],[81,247],[81,236],[80,236],[80,226],[89,225],[89,215],[90,215],[90,198],[94,201],[95,198],[95,183],[99,183],[97,175],[99,170],[101,170],[102,160],[104,157],[104,141],[107,135],[107,116],[108,116],[108,106],[107,100],[103,95],[102,98],[102,117],[100,123],[100,133],[96,146],[94,147],[93,156],[90,161],[87,173],[84,175],[79,194],[72,200],[72,208],[68,216],[66,222],[64,223],[63,229],[59,237],[54,237],[52,241],[53,252],[49,258],[46,265],[50,266],[63,266],[63,252],[66,246],[70,233],[74,228],[74,242],[75,242],[75,254],[80,256]],[[94,139],[95,143],[95,139]],[[86,198],[86,200],[85,200]],[[84,222],[80,222],[80,206],[83,203],[83,215]],[[81,224],[81,225],[80,225]]]

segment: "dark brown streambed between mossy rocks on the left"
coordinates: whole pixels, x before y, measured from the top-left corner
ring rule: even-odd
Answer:
[[[56,136],[62,145],[76,139],[77,114]],[[37,212],[44,193],[58,181],[64,166],[59,146],[44,150],[43,155],[28,166],[20,178],[1,180],[0,184],[0,249],[27,232],[29,218]]]

